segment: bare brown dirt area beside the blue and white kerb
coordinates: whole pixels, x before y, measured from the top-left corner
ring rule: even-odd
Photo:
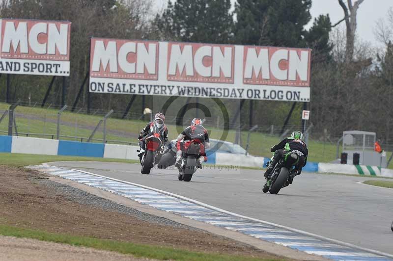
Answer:
[[[100,206],[78,203],[64,191],[39,182],[47,176],[0,166],[0,224],[191,251],[279,258],[249,245],[200,230],[142,220]]]

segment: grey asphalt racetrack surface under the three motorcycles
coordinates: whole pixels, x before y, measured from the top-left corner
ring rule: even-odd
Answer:
[[[176,170],[153,169],[143,175],[138,164],[51,165],[158,188],[234,213],[393,254],[393,189],[358,183],[372,179],[369,177],[302,173],[278,195],[270,195],[261,190],[261,170],[205,167],[191,182],[180,182]]]

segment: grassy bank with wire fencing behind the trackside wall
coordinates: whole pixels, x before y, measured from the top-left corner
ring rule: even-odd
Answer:
[[[23,106],[22,106],[23,105]],[[52,105],[41,108],[41,104],[20,103],[12,111],[10,104],[0,104],[0,133],[19,136],[63,139],[82,142],[100,142],[114,144],[138,144],[139,131],[151,120],[151,115],[128,113],[123,111],[106,111],[102,109],[87,111],[77,108],[70,112],[70,107],[59,108]],[[10,120],[11,115],[11,120]],[[123,119],[122,119],[123,118]],[[182,126],[176,115],[166,115],[166,124],[171,139],[188,126],[192,120],[185,117]],[[269,148],[293,130],[301,130],[301,126],[255,125],[252,128],[242,125],[228,125],[218,117],[204,120],[204,126],[210,131],[212,138],[222,139],[239,144],[249,153],[258,156],[269,156]],[[225,130],[227,129],[227,130]],[[11,130],[11,132],[10,132]],[[330,135],[326,130],[313,134],[312,123],[305,132],[306,142],[310,150],[317,150],[321,160],[334,160],[341,152],[341,136]],[[382,148],[390,150],[390,144],[382,143]]]

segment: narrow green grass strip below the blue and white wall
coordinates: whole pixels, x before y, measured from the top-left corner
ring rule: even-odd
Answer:
[[[38,165],[50,161],[106,161],[106,162],[139,163],[138,160],[132,160],[132,159],[0,153],[1,165],[25,167],[27,165]]]

